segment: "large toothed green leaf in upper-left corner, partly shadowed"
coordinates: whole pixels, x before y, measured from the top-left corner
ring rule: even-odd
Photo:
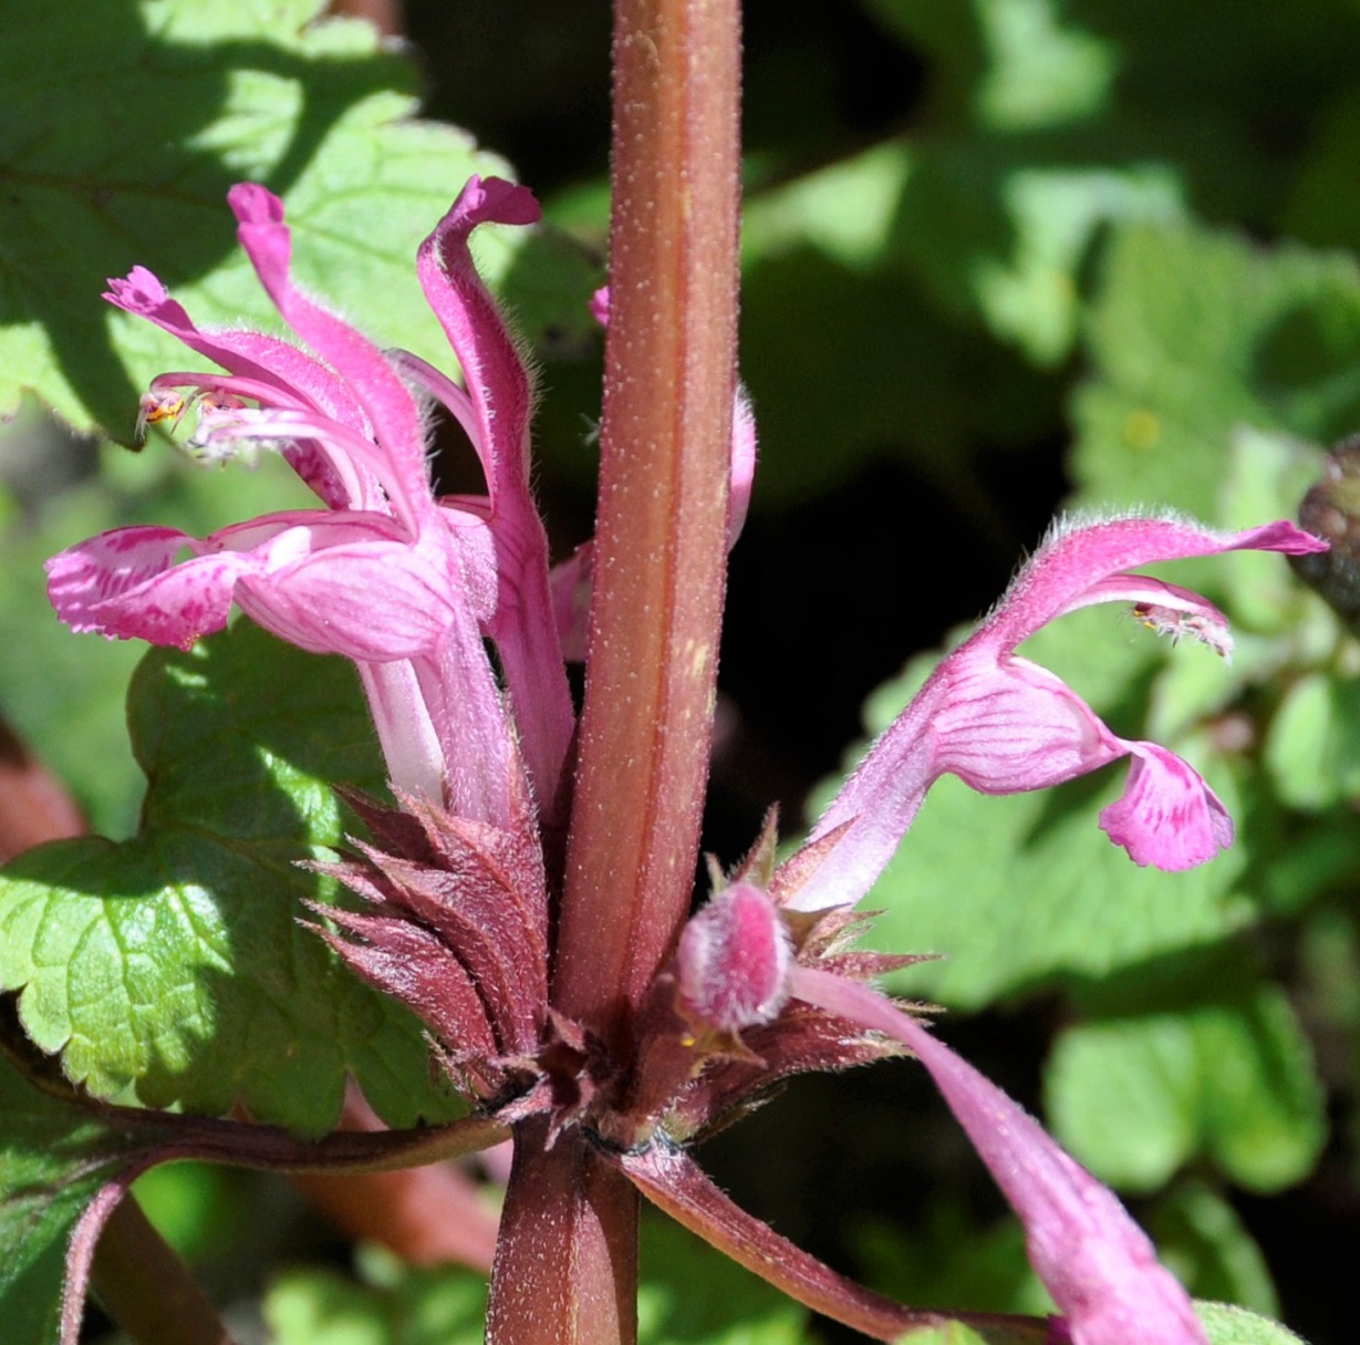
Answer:
[[[78,428],[131,431],[147,379],[182,367],[177,343],[99,301],[135,264],[199,324],[276,325],[234,243],[241,180],[286,199],[303,284],[379,344],[449,363],[415,249],[469,174],[505,166],[408,120],[412,64],[324,8],[0,0],[0,415],[29,388]],[[499,276],[510,231],[483,233]]]

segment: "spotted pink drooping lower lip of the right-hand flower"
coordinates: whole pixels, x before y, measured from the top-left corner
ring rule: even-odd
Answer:
[[[1156,743],[1126,747],[1129,783],[1100,827],[1134,864],[1193,869],[1232,845],[1232,819],[1198,771]]]

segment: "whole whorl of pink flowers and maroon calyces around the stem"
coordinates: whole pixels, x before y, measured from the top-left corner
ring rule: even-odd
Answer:
[[[174,428],[192,418],[190,446],[209,460],[249,446],[279,452],[320,506],[203,540],[169,528],[105,533],[53,558],[49,586],[75,630],[186,647],[222,628],[235,604],[302,649],[354,661],[401,806],[356,802],[370,842],[355,842],[332,872],[366,908],[329,913],[324,937],[359,975],[420,1013],[441,1062],[479,1106],[511,1123],[547,1115],[554,1127],[593,1126],[664,1208],[688,1198],[694,1168],[687,1157],[647,1167],[650,1144],[679,1152],[783,1074],[907,1049],[1024,1221],[1070,1340],[1202,1342],[1183,1291],[1118,1201],[870,987],[872,976],[911,959],[850,952],[847,942],[860,923],[853,907],[944,774],[1010,793],[1129,757],[1126,791],[1100,824],[1136,862],[1185,869],[1229,845],[1223,804],[1186,762],[1114,734],[1016,647],[1066,612],[1118,601],[1155,630],[1227,653],[1223,613],[1133,567],[1236,549],[1302,555],[1323,544],[1287,522],[1239,533],[1175,517],[1057,528],[869,751],[804,847],[775,865],[771,828],[718,881],[636,1015],[631,1057],[619,1059],[555,1013],[551,991],[558,874],[544,842],[560,835],[570,809],[575,719],[564,653],[583,647],[590,552],[549,573],[529,491],[532,382],[468,250],[480,223],[532,223],[533,197],[473,178],[419,250],[420,284],[462,384],[377,348],[302,294],[275,196],[241,185],[230,204],[241,245],[299,344],[200,329],[143,268],[112,282],[106,298],[216,366],[158,377],[143,398],[146,423]],[[602,295],[596,310],[602,321]],[[435,498],[426,464],[431,403],[465,428],[486,473],[483,495]],[[755,457],[744,398],[734,423],[730,540]],[[700,1199],[700,1225],[732,1227],[721,1199],[715,1191]],[[752,1244],[775,1238],[741,1227]],[[779,1261],[762,1255],[770,1267]]]

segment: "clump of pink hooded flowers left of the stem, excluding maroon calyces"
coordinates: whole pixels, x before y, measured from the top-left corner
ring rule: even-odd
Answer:
[[[537,205],[524,188],[473,178],[420,250],[464,390],[415,356],[379,351],[294,286],[276,196],[242,184],[228,201],[261,284],[306,350],[203,330],[137,267],[110,282],[109,302],[223,370],[159,375],[141,419],[173,426],[193,411],[189,446],[208,460],[243,445],[276,449],[324,507],[203,541],[169,528],[105,533],[48,563],[52,602],[78,631],[181,647],[220,630],[235,602],[294,645],[343,654],[359,669],[394,783],[505,824],[521,745],[540,797],[555,796],[573,711],[529,499],[529,381],[466,243],[483,222],[533,222]],[[434,498],[412,384],[468,430],[488,496]],[[515,726],[483,635],[498,645]]]

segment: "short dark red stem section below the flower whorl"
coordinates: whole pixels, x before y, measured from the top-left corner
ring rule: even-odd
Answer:
[[[638,1193],[578,1129],[515,1136],[491,1276],[487,1345],[636,1341]]]

